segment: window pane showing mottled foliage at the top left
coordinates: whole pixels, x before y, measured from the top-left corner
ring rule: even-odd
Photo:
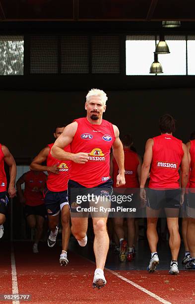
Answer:
[[[23,75],[24,39],[0,36],[0,75]]]

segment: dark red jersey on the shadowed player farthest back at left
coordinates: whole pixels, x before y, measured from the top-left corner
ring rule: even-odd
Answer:
[[[43,189],[47,180],[47,175],[43,172],[35,174],[33,171],[25,173],[24,197],[26,205],[39,206],[44,204]]]

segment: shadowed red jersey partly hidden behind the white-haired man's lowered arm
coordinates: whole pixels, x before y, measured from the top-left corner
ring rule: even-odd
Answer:
[[[130,149],[124,149],[125,154],[125,180],[126,184],[120,188],[138,188],[139,182],[137,178],[137,167],[139,164],[137,153]],[[113,185],[116,187],[117,175],[119,174],[119,167],[115,158],[113,158],[114,174],[113,174]]]

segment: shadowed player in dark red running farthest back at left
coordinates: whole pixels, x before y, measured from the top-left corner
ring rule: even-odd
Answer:
[[[43,172],[28,171],[16,182],[16,188],[20,203],[25,206],[25,216],[30,228],[35,229],[35,241],[33,252],[39,253],[38,243],[43,232],[43,224],[46,216],[43,190],[47,181],[47,175]],[[21,185],[25,184],[24,193]]]

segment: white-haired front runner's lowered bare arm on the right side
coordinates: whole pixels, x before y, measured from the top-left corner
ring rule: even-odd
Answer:
[[[119,167],[119,174],[117,175],[117,187],[125,185],[125,166],[124,166],[124,150],[122,142],[119,138],[119,129],[117,126],[113,125],[113,129],[115,132],[116,140],[113,143],[113,156],[115,157],[118,167]]]

